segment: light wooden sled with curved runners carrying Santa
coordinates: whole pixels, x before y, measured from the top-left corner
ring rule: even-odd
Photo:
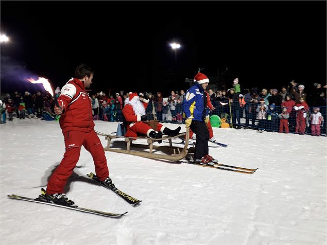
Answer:
[[[106,136],[106,139],[108,141],[107,147],[104,147],[105,151],[113,151],[117,153],[124,153],[124,154],[131,154],[131,155],[137,155],[137,156],[143,156],[144,158],[152,158],[152,159],[163,159],[163,160],[169,160],[173,162],[177,162],[183,158],[185,158],[188,150],[188,139],[190,138],[190,129],[186,128],[185,133],[178,134],[174,137],[163,137],[163,138],[149,138],[146,136],[141,137],[124,137],[124,136],[116,136],[116,135],[106,135],[97,133],[98,135]],[[185,145],[183,148],[180,147],[173,147],[173,143],[171,142],[172,138],[185,136]],[[115,149],[110,148],[112,139],[116,138],[124,138],[124,141],[126,142],[126,150],[124,149]],[[138,139],[146,139],[148,145],[142,145],[142,144],[135,144],[132,143],[132,141],[136,141]],[[158,146],[153,145],[153,143],[157,141],[164,141],[165,139],[168,139],[169,146]],[[131,150],[131,148],[139,148],[137,150]],[[148,151],[144,151],[144,149],[148,149]],[[155,153],[154,151],[162,151],[165,154]]]

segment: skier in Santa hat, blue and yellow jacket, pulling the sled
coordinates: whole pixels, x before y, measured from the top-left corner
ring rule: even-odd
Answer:
[[[209,115],[208,110],[206,110],[207,93],[204,90],[208,86],[209,79],[204,74],[198,73],[194,80],[195,85],[187,90],[182,104],[186,116],[185,127],[190,127],[196,134],[194,161],[200,164],[208,164],[214,160],[209,155],[209,132],[206,128]]]

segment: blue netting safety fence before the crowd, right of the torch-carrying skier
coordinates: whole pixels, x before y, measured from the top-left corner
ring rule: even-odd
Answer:
[[[238,101],[222,100],[212,102],[214,110],[209,115],[217,115],[224,119],[231,128],[249,128],[259,131],[284,132],[312,135],[326,135],[326,106],[315,107],[286,107],[283,113],[281,106],[267,106],[260,103],[240,104]],[[153,119],[160,122],[183,124],[185,114],[182,102],[158,103],[150,101],[146,113],[152,114]],[[100,107],[94,119],[106,121],[123,121],[120,108]]]

